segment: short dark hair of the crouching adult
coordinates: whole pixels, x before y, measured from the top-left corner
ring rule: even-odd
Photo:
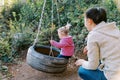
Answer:
[[[102,21],[107,22],[107,15],[104,8],[91,8],[85,13],[87,18],[93,20],[95,24],[99,24]]]

